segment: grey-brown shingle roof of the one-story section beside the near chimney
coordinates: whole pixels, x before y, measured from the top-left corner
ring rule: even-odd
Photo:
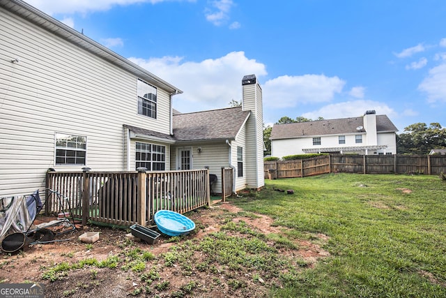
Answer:
[[[249,114],[241,107],[174,114],[174,138],[178,141],[234,139]]]

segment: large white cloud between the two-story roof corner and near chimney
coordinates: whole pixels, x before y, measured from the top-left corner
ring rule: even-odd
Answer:
[[[267,74],[266,66],[248,59],[245,52],[199,62],[183,61],[182,57],[129,59],[184,92],[174,96],[174,107],[180,112],[229,107],[232,99],[242,98],[244,75],[255,74],[259,80]]]

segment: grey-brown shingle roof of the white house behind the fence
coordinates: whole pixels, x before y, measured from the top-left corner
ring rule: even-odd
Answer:
[[[326,119],[291,124],[275,124],[272,126],[270,140],[307,137],[312,135],[339,135],[357,133],[357,127],[364,126],[363,117]],[[398,131],[386,115],[376,116],[376,131]]]

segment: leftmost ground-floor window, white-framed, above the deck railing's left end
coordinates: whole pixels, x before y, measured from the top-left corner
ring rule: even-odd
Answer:
[[[56,133],[56,165],[85,165],[86,137]]]

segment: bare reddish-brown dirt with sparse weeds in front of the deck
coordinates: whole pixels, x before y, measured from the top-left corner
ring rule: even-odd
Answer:
[[[89,226],[64,235],[59,241],[50,244],[38,244],[26,248],[15,254],[2,253],[0,255],[1,283],[44,283],[45,297],[264,297],[272,286],[280,286],[278,278],[261,278],[261,274],[245,271],[243,268],[233,269],[226,265],[207,264],[206,255],[196,252],[191,255],[194,262],[207,264],[208,268],[197,270],[183,268],[180,263],[167,267],[162,256],[173,246],[199,243],[208,235],[219,232],[222,225],[230,221],[245,222],[249,228],[262,234],[281,234],[284,227],[273,225],[272,218],[261,214],[246,214],[242,209],[231,203],[216,204],[209,209],[199,209],[188,216],[197,224],[197,229],[187,237],[171,242],[167,236],[160,237],[157,244],[149,245],[145,242],[130,241],[126,236],[128,230],[114,230],[98,226]],[[80,234],[89,231],[100,232],[100,239],[94,244],[84,244],[79,241]],[[238,237],[236,235],[236,237]],[[243,237],[240,236],[240,237]],[[319,244],[325,243],[328,237],[324,234],[314,235],[313,241],[306,239],[294,240],[298,249],[280,248],[291,260],[300,259],[312,267],[320,258],[330,255]],[[189,241],[189,242],[188,242]],[[268,243],[274,246],[274,243]],[[144,270],[123,270],[125,253],[135,249],[149,252],[155,256],[154,260],[146,262]],[[124,252],[124,253],[123,253]],[[116,268],[89,267],[70,269],[61,274],[55,281],[45,279],[43,274],[56,265],[75,264],[86,259],[98,262],[107,260],[111,256],[118,256],[120,263]],[[298,265],[296,265],[298,266]],[[212,270],[210,270],[211,268]],[[148,284],[146,276],[156,271],[158,276],[153,283]],[[259,276],[258,276],[259,275]],[[150,286],[149,286],[150,285]]]

